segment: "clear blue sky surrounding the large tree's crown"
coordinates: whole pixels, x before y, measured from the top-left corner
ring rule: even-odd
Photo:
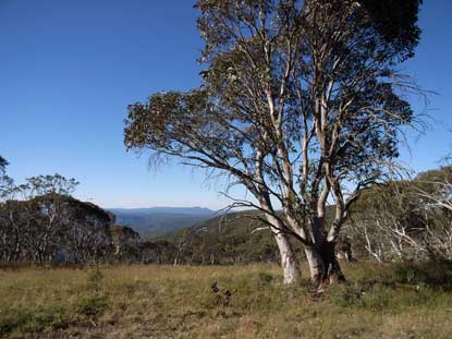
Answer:
[[[203,43],[190,0],[0,0],[0,155],[21,182],[76,178],[102,207],[225,206],[203,172],[149,171],[122,143],[129,104],[199,84]],[[438,166],[452,149],[452,1],[427,0],[417,56],[405,66],[430,96],[430,129],[403,160]],[[420,110],[423,105],[414,102]]]

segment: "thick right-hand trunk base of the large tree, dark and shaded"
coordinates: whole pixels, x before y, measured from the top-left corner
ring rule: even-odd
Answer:
[[[335,257],[334,247],[335,243],[329,241],[305,247],[310,279],[314,286],[320,291],[328,284],[345,281],[345,276]]]

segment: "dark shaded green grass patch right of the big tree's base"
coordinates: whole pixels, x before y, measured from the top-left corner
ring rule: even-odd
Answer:
[[[410,307],[452,306],[452,263],[401,263],[359,271],[359,277],[329,289],[328,299],[341,307],[402,313]]]

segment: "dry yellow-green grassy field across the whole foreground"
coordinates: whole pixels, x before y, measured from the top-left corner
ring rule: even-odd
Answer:
[[[274,265],[3,268],[0,337],[452,338],[449,266],[344,270],[316,295]]]

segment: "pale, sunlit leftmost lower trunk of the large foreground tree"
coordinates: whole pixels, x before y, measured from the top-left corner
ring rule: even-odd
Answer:
[[[293,284],[300,281],[301,273],[298,261],[289,242],[288,235],[281,232],[273,232],[280,252],[283,282]]]

